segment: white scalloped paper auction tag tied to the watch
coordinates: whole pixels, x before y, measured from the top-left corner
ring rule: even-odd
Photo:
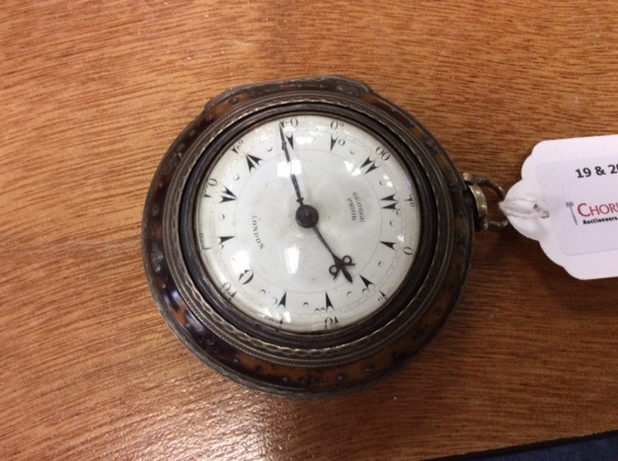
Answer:
[[[618,135],[538,143],[501,203],[577,279],[618,276]]]

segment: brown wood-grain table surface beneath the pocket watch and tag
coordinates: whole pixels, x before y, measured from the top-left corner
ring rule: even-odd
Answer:
[[[231,86],[363,80],[505,187],[543,139],[618,133],[618,3],[17,1],[0,6],[0,458],[416,460],[618,428],[617,279],[512,228],[402,373],[320,401],[251,392],[159,316],[141,212]]]

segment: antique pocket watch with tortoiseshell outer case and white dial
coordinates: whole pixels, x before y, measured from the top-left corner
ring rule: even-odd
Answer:
[[[234,88],[152,180],[144,266],[165,322],[221,375],[324,397],[399,370],[442,327],[488,222],[481,186],[411,115],[341,77]]]

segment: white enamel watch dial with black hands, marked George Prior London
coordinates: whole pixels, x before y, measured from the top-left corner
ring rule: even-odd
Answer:
[[[407,167],[376,134],[299,113],[220,153],[194,226],[205,272],[233,307],[313,333],[365,320],[398,292],[419,246],[417,204]]]

